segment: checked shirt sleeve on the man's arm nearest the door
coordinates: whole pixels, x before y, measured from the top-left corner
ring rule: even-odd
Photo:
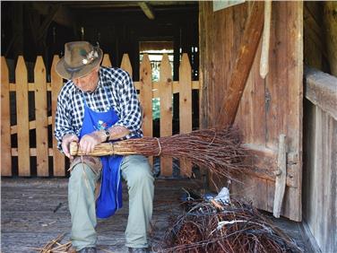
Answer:
[[[119,106],[121,117],[115,125],[125,126],[130,132],[142,129],[142,111],[137,97],[134,83],[129,74],[125,72],[123,82],[120,83]]]

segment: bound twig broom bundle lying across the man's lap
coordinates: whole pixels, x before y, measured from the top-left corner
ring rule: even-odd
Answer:
[[[240,145],[238,128],[203,129],[188,134],[167,137],[143,137],[99,144],[88,155],[143,154],[145,156],[169,156],[183,158],[203,165],[218,176],[229,176],[229,171],[246,168],[245,149]],[[71,144],[72,155],[85,155],[76,143]],[[225,169],[225,170],[223,170]]]

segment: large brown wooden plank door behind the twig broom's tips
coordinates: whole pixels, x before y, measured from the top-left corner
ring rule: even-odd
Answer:
[[[252,2],[217,12],[212,2],[200,2],[200,67],[203,74],[202,126],[216,126],[219,105],[228,96],[228,83]],[[281,214],[301,220],[303,6],[301,2],[272,2],[269,74],[259,75],[261,43],[246,82],[235,125],[244,142],[258,155],[254,176],[232,192],[246,196],[261,209],[272,211],[279,135],[287,135],[287,188]],[[261,172],[261,173],[260,173]],[[265,174],[269,174],[265,177]],[[225,185],[225,184],[224,184]]]

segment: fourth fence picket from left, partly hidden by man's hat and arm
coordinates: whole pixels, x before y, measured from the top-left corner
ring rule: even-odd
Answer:
[[[57,96],[60,92],[63,80],[62,78],[56,73],[55,66],[59,60],[58,56],[54,56],[53,64],[51,66],[51,109],[52,109],[52,129],[54,132],[55,129],[55,115],[56,115],[56,108],[57,108]],[[65,155],[61,153],[57,149],[57,141],[56,138],[53,136],[53,173],[54,176],[63,177],[65,176]]]

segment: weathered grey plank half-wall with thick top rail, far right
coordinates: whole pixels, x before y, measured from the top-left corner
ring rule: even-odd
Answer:
[[[337,252],[337,78],[306,71],[303,219],[322,252]]]

